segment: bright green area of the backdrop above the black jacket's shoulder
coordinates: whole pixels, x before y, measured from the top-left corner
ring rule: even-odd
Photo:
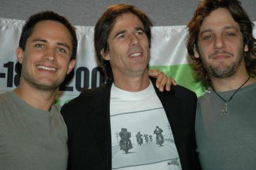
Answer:
[[[203,95],[207,87],[201,81],[197,81],[193,76],[192,64],[179,64],[174,66],[150,66],[150,69],[159,69],[168,76],[172,77],[181,86],[187,87],[197,94],[197,97]]]

